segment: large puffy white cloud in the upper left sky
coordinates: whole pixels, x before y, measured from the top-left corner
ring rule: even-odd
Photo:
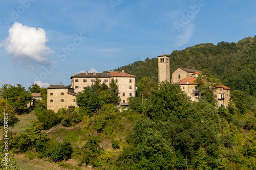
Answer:
[[[46,56],[54,51],[46,46],[46,42],[48,38],[44,29],[23,26],[22,23],[15,22],[9,29],[9,37],[2,44],[14,62],[34,69],[35,63],[50,64]]]

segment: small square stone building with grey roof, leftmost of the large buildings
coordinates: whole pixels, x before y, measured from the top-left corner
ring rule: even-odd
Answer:
[[[47,88],[47,109],[57,112],[60,108],[78,107],[76,96],[71,87],[63,86],[61,83],[50,85]]]

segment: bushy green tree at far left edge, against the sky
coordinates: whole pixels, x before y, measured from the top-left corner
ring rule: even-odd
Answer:
[[[4,84],[0,89],[0,94],[14,107],[17,113],[21,114],[29,110],[27,104],[31,102],[32,96],[22,85],[17,84],[17,87],[15,87],[10,84]]]

